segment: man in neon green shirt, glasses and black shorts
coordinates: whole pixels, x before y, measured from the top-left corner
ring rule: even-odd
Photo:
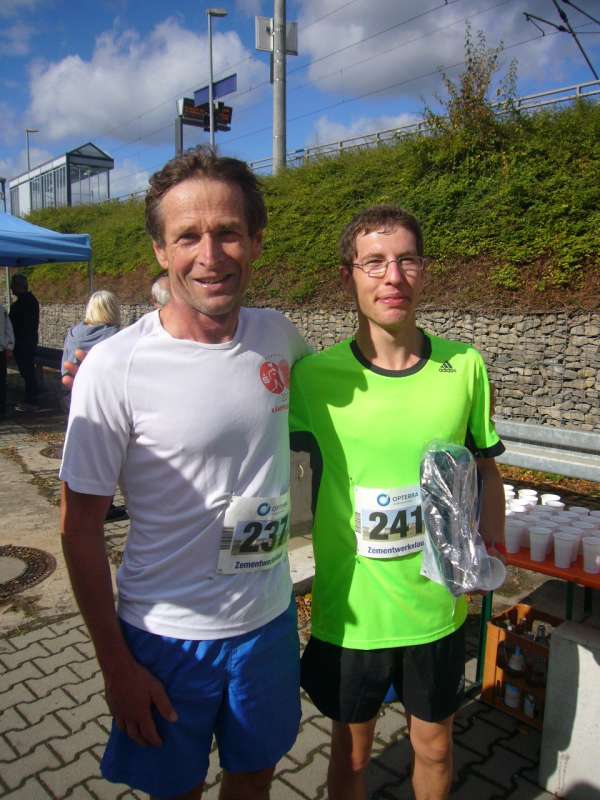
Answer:
[[[302,684],[333,720],[330,800],[364,800],[364,771],[388,691],[402,700],[417,800],[452,782],[452,723],[463,695],[464,598],[421,575],[419,467],[432,440],[464,444],[481,478],[480,530],[502,541],[490,384],[479,353],[417,327],[425,259],[419,223],[395,206],[358,214],[341,241],[354,297],[352,340],[298,362],[292,446],[311,452],[312,637]]]

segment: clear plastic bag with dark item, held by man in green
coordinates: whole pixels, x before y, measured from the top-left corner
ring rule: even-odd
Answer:
[[[477,467],[466,447],[428,445],[421,459],[421,507],[425,526],[421,575],[458,597],[493,591],[506,569],[489,556],[477,526]]]

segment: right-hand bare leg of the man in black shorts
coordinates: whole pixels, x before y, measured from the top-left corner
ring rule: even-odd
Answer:
[[[446,800],[452,785],[452,724],[424,722],[407,716],[414,751],[412,784],[415,800]]]

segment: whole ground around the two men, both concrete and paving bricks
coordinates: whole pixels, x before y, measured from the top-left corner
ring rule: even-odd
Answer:
[[[60,425],[61,420],[57,419]],[[57,569],[42,583],[0,607],[0,798],[108,800],[142,798],[99,774],[110,716],[85,626],[64,591],[56,509],[56,469],[38,455],[36,422],[0,424],[0,506],[8,509],[0,544],[52,552]],[[59,428],[57,428],[59,429]],[[40,479],[43,474],[44,480]],[[106,527],[113,565],[127,523]],[[473,626],[476,628],[476,625]],[[306,639],[306,630],[302,638]],[[470,641],[468,673],[475,643]],[[326,798],[329,722],[302,699],[298,739],[283,758],[271,800]],[[399,704],[383,710],[367,781],[372,800],[411,797],[406,718]],[[455,725],[455,784],[461,800],[551,800],[536,785],[540,734],[478,700],[469,700]],[[212,753],[206,800],[217,800],[220,770]]]

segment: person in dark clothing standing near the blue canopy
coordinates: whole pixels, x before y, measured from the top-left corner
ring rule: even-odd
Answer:
[[[25,381],[25,402],[36,405],[38,386],[35,376],[35,351],[38,345],[40,304],[29,291],[25,275],[13,275],[10,282],[17,298],[10,307],[10,321],[15,332],[14,358]]]

